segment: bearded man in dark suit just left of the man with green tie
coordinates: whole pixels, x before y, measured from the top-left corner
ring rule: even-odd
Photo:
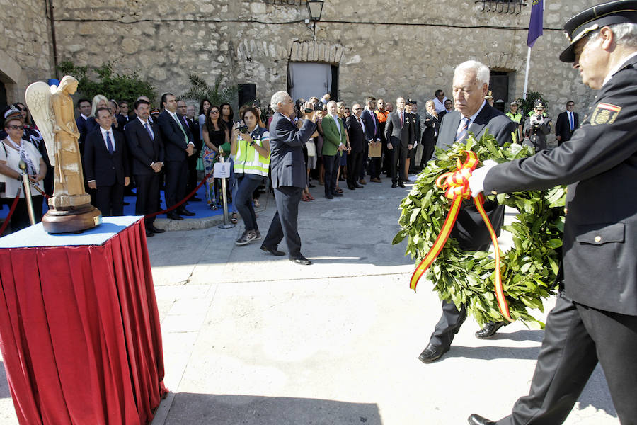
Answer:
[[[163,143],[161,132],[155,123],[149,122],[150,104],[140,100],[134,103],[137,118],[124,128],[126,144],[132,157],[132,174],[137,182],[135,215],[147,215],[159,211],[159,172],[163,167]],[[146,236],[163,233],[154,226],[155,217],[144,219]]]

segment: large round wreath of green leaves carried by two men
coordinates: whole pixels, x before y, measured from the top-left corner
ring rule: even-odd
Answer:
[[[417,260],[424,258],[440,233],[451,200],[435,184],[440,174],[456,169],[456,159],[464,159],[462,152],[473,150],[478,159],[504,162],[528,157],[532,149],[517,143],[500,147],[493,135],[486,133],[480,140],[473,135],[464,144],[454,144],[446,152],[436,148],[432,160],[418,176],[408,196],[401,202],[401,230],[393,244],[407,238],[406,254]],[[556,187],[548,191],[525,191],[488,196],[500,205],[515,208],[517,221],[503,229],[512,233],[512,249],[501,256],[502,280],[512,319],[520,319],[527,326],[541,329],[544,323],[532,317],[527,308],[543,311],[542,299],[554,293],[553,283],[558,273],[562,233],[563,206],[566,189]],[[463,205],[471,205],[464,200]],[[441,300],[451,300],[457,307],[466,305],[467,312],[483,326],[488,321],[504,317],[498,310],[493,292],[495,260],[488,251],[463,251],[458,242],[449,237],[440,255],[423,275],[422,280],[434,283]]]

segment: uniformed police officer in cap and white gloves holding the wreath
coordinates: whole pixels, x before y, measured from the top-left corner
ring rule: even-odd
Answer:
[[[560,60],[599,89],[590,115],[552,151],[485,164],[469,180],[474,195],[569,185],[563,280],[529,395],[510,416],[493,422],[472,414],[471,425],[562,424],[598,362],[619,422],[636,423],[637,1],[588,8],[565,28],[571,42]]]

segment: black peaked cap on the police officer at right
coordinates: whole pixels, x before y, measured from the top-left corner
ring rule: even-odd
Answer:
[[[570,44],[561,53],[560,60],[575,62],[575,44],[585,35],[604,26],[624,22],[637,23],[637,0],[608,1],[578,13],[564,24]]]

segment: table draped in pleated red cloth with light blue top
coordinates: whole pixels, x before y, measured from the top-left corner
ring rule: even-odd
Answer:
[[[166,395],[143,220],[0,238],[0,348],[20,424],[147,424]]]

